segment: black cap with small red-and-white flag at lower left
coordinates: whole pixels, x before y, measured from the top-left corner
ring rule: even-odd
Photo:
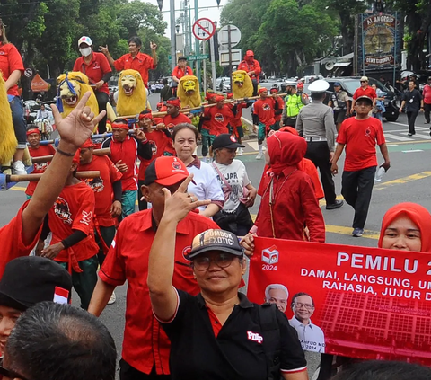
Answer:
[[[72,278],[60,264],[43,257],[24,256],[9,261],[0,280],[0,305],[25,311],[55,295],[68,296]],[[66,298],[67,298],[66,296]]]

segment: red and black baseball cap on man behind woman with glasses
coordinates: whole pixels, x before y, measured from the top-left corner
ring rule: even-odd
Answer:
[[[144,184],[156,182],[171,186],[189,177],[186,165],[178,157],[163,156],[156,158],[145,170]]]

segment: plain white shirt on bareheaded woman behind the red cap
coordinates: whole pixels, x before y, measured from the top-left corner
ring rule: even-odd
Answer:
[[[224,202],[224,195],[219,185],[214,169],[207,163],[200,163],[200,169],[196,166],[188,166],[189,173],[193,173],[193,182],[189,183],[187,190],[198,197],[199,200],[211,199]],[[200,206],[200,210],[205,210],[207,206]]]

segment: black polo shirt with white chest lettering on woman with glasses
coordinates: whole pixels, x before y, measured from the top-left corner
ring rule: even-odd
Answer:
[[[162,323],[171,340],[172,380],[266,380],[267,361],[259,325],[259,305],[239,293],[240,304],[217,337],[203,297],[178,290],[179,306],[171,323]],[[280,363],[285,373],[305,370],[298,335],[285,314],[277,311],[281,336]]]

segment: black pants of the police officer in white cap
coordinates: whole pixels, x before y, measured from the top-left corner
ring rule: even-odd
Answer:
[[[305,158],[312,160],[312,163],[319,168],[321,172],[321,185],[325,193],[327,205],[335,203],[335,183],[330,172],[330,148],[326,141],[311,141],[308,143],[307,153]]]

